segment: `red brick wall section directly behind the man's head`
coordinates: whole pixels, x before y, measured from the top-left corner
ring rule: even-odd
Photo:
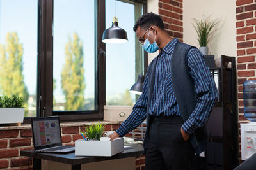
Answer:
[[[182,0],[159,0],[158,6],[158,13],[163,19],[166,31],[183,42]]]

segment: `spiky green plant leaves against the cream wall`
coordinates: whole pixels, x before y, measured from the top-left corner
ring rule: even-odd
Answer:
[[[209,37],[212,36],[213,32],[216,31],[213,28],[220,22],[218,20],[210,20],[210,16],[201,20],[193,19],[193,27],[198,35],[198,43],[200,46],[207,46],[209,43]]]

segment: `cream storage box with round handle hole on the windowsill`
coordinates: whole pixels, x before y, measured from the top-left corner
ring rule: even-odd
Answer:
[[[124,121],[132,112],[133,106],[104,106],[104,120]]]

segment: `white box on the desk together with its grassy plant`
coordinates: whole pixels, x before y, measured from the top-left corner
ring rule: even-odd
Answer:
[[[84,139],[75,141],[76,156],[101,156],[111,157],[124,151],[124,138],[116,138],[110,141],[108,137],[102,137],[105,126],[93,124],[85,128],[81,135]]]

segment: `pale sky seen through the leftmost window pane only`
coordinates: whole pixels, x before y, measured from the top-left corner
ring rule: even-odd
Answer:
[[[37,1],[0,0],[0,44],[7,32],[17,32],[22,43],[23,74],[29,94],[36,92],[37,63]],[[18,14],[18,15],[17,15]]]

